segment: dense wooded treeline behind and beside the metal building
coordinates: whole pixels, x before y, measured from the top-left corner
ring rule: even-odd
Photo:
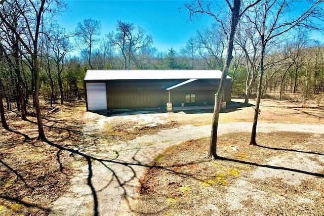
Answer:
[[[160,52],[154,38],[130,22],[118,20],[115,29],[101,35],[100,21],[86,19],[74,32],[66,32],[55,22],[55,16],[66,11],[58,0],[1,1],[1,95],[6,108],[18,110],[23,119],[31,98],[36,111],[39,96],[50,106],[84,99],[87,69],[224,67],[227,41],[218,22],[197,30],[182,49]],[[257,14],[249,13],[238,23],[229,71],[232,94],[245,97],[246,103],[257,93],[261,60],[261,40],[249,20]],[[313,33],[314,28],[296,27],[269,42],[263,58],[263,96],[277,92],[277,99],[285,99],[286,93],[300,93],[307,98],[324,91],[324,47],[312,39]]]

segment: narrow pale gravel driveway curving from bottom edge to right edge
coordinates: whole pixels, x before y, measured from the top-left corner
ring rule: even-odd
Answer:
[[[86,130],[91,125],[103,124],[102,118],[110,118],[94,113],[86,115],[95,119]],[[252,123],[247,122],[220,124],[218,135],[250,132],[251,128]],[[324,126],[259,122],[257,131],[324,133]],[[139,180],[154,158],[169,146],[208,137],[210,133],[211,125],[184,125],[110,146],[107,155],[98,156],[100,160],[88,161],[78,168],[69,190],[54,203],[51,215],[132,215],[129,202],[136,198]]]

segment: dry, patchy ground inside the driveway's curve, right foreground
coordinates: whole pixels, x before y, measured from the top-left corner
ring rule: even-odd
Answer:
[[[323,215],[324,135],[249,133],[219,138],[216,161],[204,159],[209,139],[172,146],[142,179],[139,215]]]

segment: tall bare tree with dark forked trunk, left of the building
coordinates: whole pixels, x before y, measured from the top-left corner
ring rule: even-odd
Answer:
[[[35,89],[33,91],[33,101],[35,104],[37,126],[38,126],[38,138],[39,140],[46,140],[41,106],[39,105],[39,65],[38,65],[38,39],[39,34],[41,34],[41,23],[44,19],[46,12],[58,12],[58,10],[53,7],[53,4],[61,4],[59,1],[21,1],[21,0],[7,0],[1,2],[0,7],[0,18],[1,21],[10,29],[10,31],[15,34],[17,40],[24,47],[30,59],[28,60],[30,69],[32,71],[32,78],[34,80]],[[8,10],[11,9],[11,10]],[[65,8],[64,5],[61,5],[60,10]],[[20,26],[24,27],[24,33],[21,34],[17,31],[17,28],[8,21],[7,17],[10,16],[9,13],[19,13],[21,19],[19,22]]]

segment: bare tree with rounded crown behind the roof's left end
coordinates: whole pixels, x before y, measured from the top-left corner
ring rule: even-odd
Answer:
[[[94,49],[99,42],[96,36],[101,34],[100,30],[101,24],[97,20],[86,19],[76,24],[75,42],[91,69],[94,69],[96,63],[97,53],[94,52]]]

